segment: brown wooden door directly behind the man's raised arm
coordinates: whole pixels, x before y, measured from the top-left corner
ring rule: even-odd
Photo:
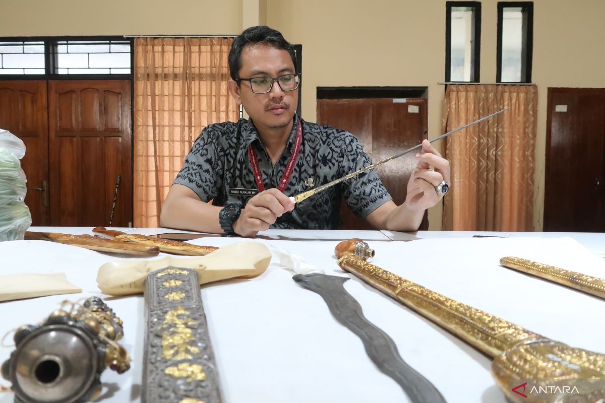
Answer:
[[[427,99],[405,98],[405,102],[402,101],[393,98],[318,99],[317,121],[355,135],[365,153],[376,163],[427,138]],[[408,179],[417,164],[415,155],[410,153],[376,168],[397,205],[405,201]],[[371,225],[356,218],[344,202],[341,214],[343,229],[371,229]],[[427,228],[425,213],[420,229]]]

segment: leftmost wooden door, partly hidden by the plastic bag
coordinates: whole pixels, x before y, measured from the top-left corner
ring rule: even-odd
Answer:
[[[25,204],[32,225],[49,225],[48,115],[46,80],[0,81],[0,128],[25,143],[21,167],[27,178]]]

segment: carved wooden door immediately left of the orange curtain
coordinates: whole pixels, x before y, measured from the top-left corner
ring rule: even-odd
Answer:
[[[131,89],[129,80],[48,82],[51,225],[132,221]]]

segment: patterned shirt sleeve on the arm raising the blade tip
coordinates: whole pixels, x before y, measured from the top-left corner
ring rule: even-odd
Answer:
[[[342,176],[371,164],[370,158],[354,135],[347,133],[344,145],[343,167],[345,172]],[[376,170],[373,169],[353,176],[343,184],[344,200],[358,218],[365,218],[385,202],[393,200],[378,178]]]

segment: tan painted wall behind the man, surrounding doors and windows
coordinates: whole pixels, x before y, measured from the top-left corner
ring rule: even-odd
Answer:
[[[246,3],[247,2],[247,3]],[[445,0],[2,0],[0,36],[237,34],[266,22],[303,45],[302,115],[318,86],[428,86],[429,136],[439,134]],[[481,79],[495,80],[497,0],[482,0]],[[605,1],[534,0],[538,84],[534,224],[542,228],[547,89],[605,87]],[[429,212],[440,228],[440,206]]]

